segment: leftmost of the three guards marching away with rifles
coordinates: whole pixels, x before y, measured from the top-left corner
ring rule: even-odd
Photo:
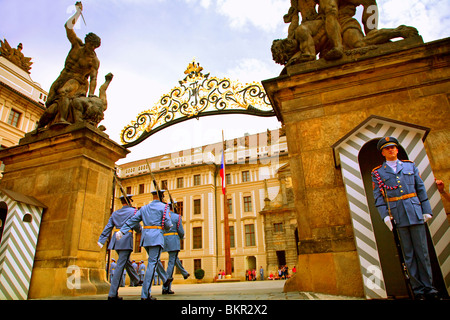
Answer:
[[[129,201],[132,201],[133,195],[127,195],[127,198]],[[98,239],[98,246],[100,248],[103,247],[106,240],[108,239],[109,235],[111,234],[111,231],[114,231],[117,233],[117,231],[123,226],[125,221],[127,221],[129,218],[133,217],[136,213],[136,209],[133,207],[128,206],[127,200],[124,196],[120,197],[120,200],[122,202],[122,208],[114,211],[111,214],[111,217],[109,218],[108,224],[103,229],[103,232],[101,233],[99,239]],[[134,230],[136,232],[141,232],[140,225],[135,226]],[[128,275],[130,276],[130,283],[131,285],[137,284],[139,282],[139,277],[136,272],[136,270],[132,267],[131,262],[129,260],[130,254],[133,250],[133,231],[130,229],[127,231],[126,236],[124,236],[122,239],[117,240],[114,235],[111,237],[111,241],[108,246],[109,250],[116,250],[119,258],[117,259],[116,264],[116,270],[114,271],[114,276],[111,280],[111,287],[109,289],[108,293],[108,300],[121,300],[121,298],[118,296],[118,289],[120,282],[122,280],[122,275],[125,272],[125,269],[128,272]]]

